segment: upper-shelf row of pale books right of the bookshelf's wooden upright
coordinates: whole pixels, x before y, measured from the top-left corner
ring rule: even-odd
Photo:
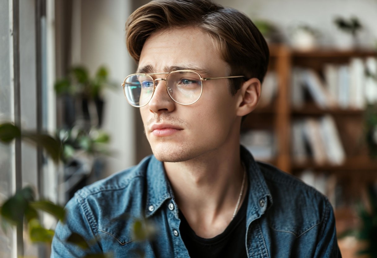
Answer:
[[[305,103],[305,92],[319,108],[363,109],[377,102],[377,58],[352,58],[349,64],[323,67],[323,77],[309,68],[295,67],[291,78],[294,108]]]

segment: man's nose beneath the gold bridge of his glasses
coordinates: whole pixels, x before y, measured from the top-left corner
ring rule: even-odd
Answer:
[[[170,98],[166,90],[164,79],[155,79],[155,92],[149,101],[149,109],[154,113],[172,112],[175,109],[175,102]]]

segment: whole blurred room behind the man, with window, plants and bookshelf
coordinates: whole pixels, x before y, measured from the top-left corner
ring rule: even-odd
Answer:
[[[22,136],[0,143],[0,203],[29,185],[64,206],[151,153],[120,86],[136,69],[124,24],[147,2],[0,0],[0,124]],[[247,14],[270,45],[241,143],[325,194],[342,255],[356,257],[377,238],[377,0],[215,2]],[[18,135],[4,128],[2,140]],[[58,163],[35,136],[46,134],[63,143]],[[20,255],[49,257],[49,245],[32,243],[22,226],[0,230],[0,256]]]

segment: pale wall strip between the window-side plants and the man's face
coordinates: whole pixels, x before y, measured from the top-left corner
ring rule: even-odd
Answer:
[[[107,164],[107,174],[112,174],[135,163],[134,110],[120,86],[126,75],[133,72],[124,40],[130,3],[125,0],[81,0],[80,9],[81,49],[78,53],[81,63],[92,74],[105,65],[111,80],[119,85],[116,91],[106,92],[104,107],[103,128],[110,133],[110,149],[115,151]]]

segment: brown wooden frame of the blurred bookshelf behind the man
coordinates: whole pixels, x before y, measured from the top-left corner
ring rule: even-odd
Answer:
[[[377,57],[377,52],[369,49],[294,51],[287,46],[272,45],[270,55],[269,71],[278,75],[278,93],[269,106],[257,107],[248,115],[242,124],[242,130],[265,129],[273,132],[276,155],[268,161],[280,169],[297,176],[303,170],[311,170],[316,174],[337,178],[346,198],[345,204],[334,209],[338,233],[341,233],[347,226],[357,223],[351,203],[362,198],[368,184],[377,182],[377,160],[369,158],[363,136],[365,112],[356,108],[319,108],[312,99],[305,99],[302,107],[294,108],[290,92],[291,72],[295,66],[310,68],[323,79],[323,67],[326,63],[348,64],[354,57]],[[308,158],[305,162],[297,163],[291,154],[291,124],[297,119],[320,118],[324,115],[330,115],[336,123],[346,154],[345,161],[340,165],[317,164],[312,158]]]

